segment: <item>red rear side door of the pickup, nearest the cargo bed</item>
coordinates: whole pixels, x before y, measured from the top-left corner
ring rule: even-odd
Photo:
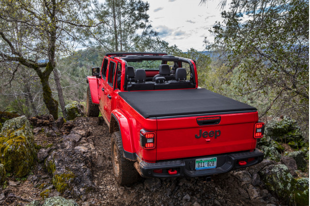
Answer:
[[[116,72],[116,62],[112,59],[109,61],[109,70],[105,87],[105,107],[104,107],[104,115],[110,121],[111,115],[111,106],[112,106],[112,95],[113,95],[113,86],[114,86],[114,77]]]

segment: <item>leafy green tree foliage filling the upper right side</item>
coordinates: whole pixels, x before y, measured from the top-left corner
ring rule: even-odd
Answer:
[[[211,31],[233,74],[226,93],[308,129],[309,1],[236,0],[222,17]]]

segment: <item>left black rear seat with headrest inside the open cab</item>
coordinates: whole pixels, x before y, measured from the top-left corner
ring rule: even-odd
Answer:
[[[127,67],[127,74],[128,74],[128,67]],[[127,91],[153,90],[154,89],[153,82],[146,82],[146,73],[144,69],[136,69],[134,77],[135,77],[135,82],[129,81],[127,83]]]

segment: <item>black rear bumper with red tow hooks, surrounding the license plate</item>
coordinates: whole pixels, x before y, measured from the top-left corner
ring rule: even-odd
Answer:
[[[217,157],[217,167],[212,169],[195,170],[196,159]],[[253,160],[254,158],[254,160]],[[208,155],[202,157],[191,157],[178,160],[158,161],[149,163],[137,158],[136,169],[142,177],[201,177],[219,173],[229,172],[231,170],[248,167],[263,161],[263,152],[255,149],[253,152],[234,152],[227,154]],[[252,159],[252,161],[248,161]],[[246,165],[240,165],[239,161],[247,162]],[[154,170],[162,169],[162,173],[155,173]],[[177,171],[176,174],[169,174],[168,170]]]

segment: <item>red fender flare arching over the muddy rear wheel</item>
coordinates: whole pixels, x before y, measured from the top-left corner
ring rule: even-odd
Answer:
[[[124,158],[136,161],[137,156],[135,152],[133,137],[132,137],[132,127],[129,118],[124,114],[121,109],[114,109],[111,112],[110,123],[112,118],[115,118],[118,124],[118,129],[121,132],[122,137],[122,147]],[[113,125],[110,125],[110,127]]]

